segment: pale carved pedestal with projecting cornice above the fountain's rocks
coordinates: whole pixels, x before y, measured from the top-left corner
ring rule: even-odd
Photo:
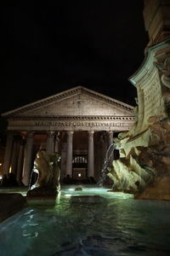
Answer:
[[[129,81],[136,87],[138,95],[138,105],[134,108],[136,125],[135,130],[133,129],[133,136],[141,134],[149,128],[150,117],[167,116],[167,103],[164,105],[164,93],[166,95],[170,88],[170,82],[168,85],[165,81],[165,79],[168,81],[170,73],[170,61],[167,59],[169,54],[170,38],[152,45],[147,49],[144,61],[139,69],[129,78]],[[166,59],[167,61],[165,61]],[[163,82],[167,83],[164,84],[167,88],[164,88]],[[168,98],[168,96],[165,97]]]

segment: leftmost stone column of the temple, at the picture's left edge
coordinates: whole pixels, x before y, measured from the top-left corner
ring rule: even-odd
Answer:
[[[7,144],[5,148],[5,155],[4,155],[4,162],[3,162],[3,174],[7,174],[7,175],[10,168],[13,142],[14,142],[14,134],[12,132],[9,132],[7,137]]]

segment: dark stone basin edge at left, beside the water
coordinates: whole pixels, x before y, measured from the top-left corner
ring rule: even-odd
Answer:
[[[2,222],[27,206],[26,197],[19,193],[2,193],[0,194],[0,206],[0,222]]]

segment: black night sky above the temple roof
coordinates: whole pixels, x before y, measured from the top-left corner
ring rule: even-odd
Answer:
[[[148,43],[143,1],[5,4],[0,113],[77,85],[135,104],[127,79]]]

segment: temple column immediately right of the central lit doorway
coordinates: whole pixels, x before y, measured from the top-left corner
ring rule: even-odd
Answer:
[[[88,177],[94,177],[94,131],[88,131]]]

